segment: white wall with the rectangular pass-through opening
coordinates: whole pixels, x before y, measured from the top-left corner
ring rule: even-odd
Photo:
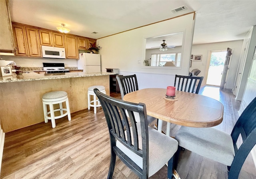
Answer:
[[[105,68],[119,68],[120,74],[137,74],[138,81],[143,79],[139,88],[164,87],[173,85],[175,74],[188,74],[192,38],[194,32],[194,14],[166,20],[142,28],[122,32],[114,36],[98,39],[102,60],[102,71]],[[174,26],[175,24],[175,26]],[[142,66],[145,60],[145,38],[160,34],[171,34],[184,30],[182,68],[152,68]],[[143,56],[144,55],[144,56]],[[140,64],[138,64],[140,60]],[[162,81],[160,83],[160,81]],[[171,83],[171,84],[170,84]]]

